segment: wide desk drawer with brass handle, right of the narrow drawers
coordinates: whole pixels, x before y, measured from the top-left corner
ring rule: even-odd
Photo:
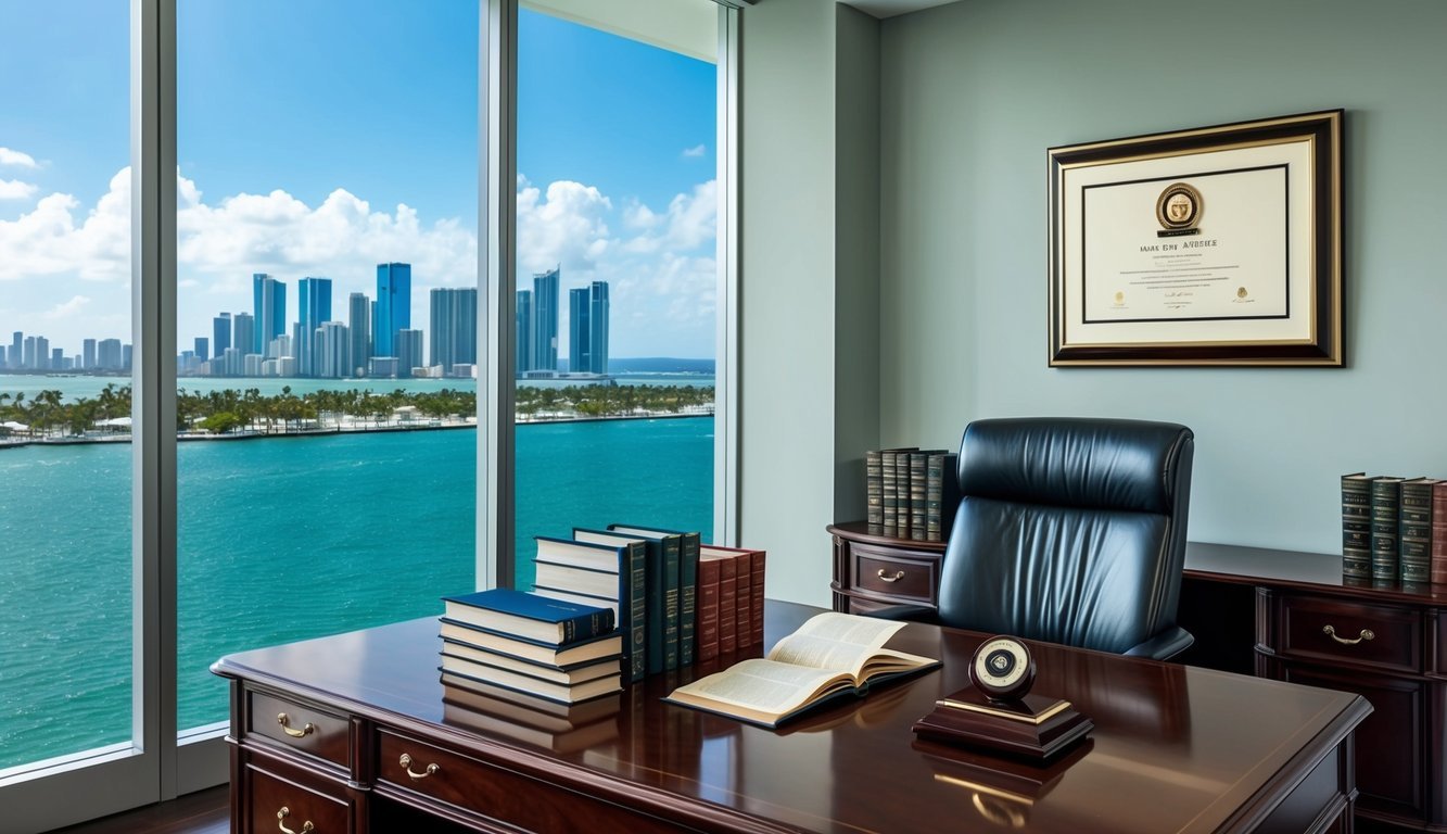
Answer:
[[[676,833],[676,824],[579,789],[550,785],[450,750],[378,730],[376,782],[382,793],[424,796],[524,831]],[[404,759],[405,763],[404,763]]]

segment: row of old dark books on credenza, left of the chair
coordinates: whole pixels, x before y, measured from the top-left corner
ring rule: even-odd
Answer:
[[[943,542],[959,504],[958,455],[945,449],[871,449],[864,453],[870,533]]]

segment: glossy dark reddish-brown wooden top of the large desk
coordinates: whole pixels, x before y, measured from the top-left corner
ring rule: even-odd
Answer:
[[[770,601],[765,643],[818,611]],[[592,708],[583,731],[538,733],[517,724],[515,707],[444,705],[434,618],[230,654],[214,669],[522,772],[712,808],[760,830],[1230,830],[1263,814],[1370,709],[1343,692],[1032,643],[1035,692],[1090,717],[1088,741],[1043,769],[917,741],[910,725],[968,683],[984,637],[910,624],[890,646],[939,657],[941,669],[777,731],[660,701],[718,669],[706,665],[625,688],[616,712]]]

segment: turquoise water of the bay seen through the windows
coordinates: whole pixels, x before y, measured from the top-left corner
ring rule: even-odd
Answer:
[[[181,443],[178,725],[226,718],[229,652],[438,614],[475,585],[476,431]],[[713,420],[517,429],[531,536],[712,528]],[[130,737],[130,447],[0,452],[0,769]]]

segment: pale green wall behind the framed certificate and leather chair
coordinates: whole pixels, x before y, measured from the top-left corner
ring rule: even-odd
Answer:
[[[1194,540],[1323,553],[1341,473],[1447,476],[1447,3],[965,0],[881,32],[881,445],[1174,420]],[[1346,369],[1046,368],[1046,148],[1333,107]]]

